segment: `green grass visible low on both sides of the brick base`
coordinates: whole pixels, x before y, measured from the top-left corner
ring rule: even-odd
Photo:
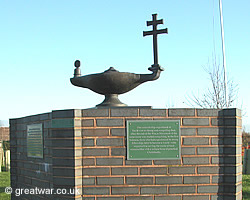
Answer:
[[[10,200],[10,195],[5,193],[5,187],[10,186],[10,173],[0,172],[0,199]],[[250,175],[243,175],[242,180],[243,200],[250,200]]]

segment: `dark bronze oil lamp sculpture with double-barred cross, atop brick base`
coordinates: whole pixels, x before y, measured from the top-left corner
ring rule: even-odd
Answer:
[[[160,77],[163,68],[158,64],[157,35],[168,33],[168,29],[157,30],[157,25],[163,24],[163,20],[157,20],[157,14],[152,16],[152,21],[147,21],[147,25],[153,26],[153,30],[143,32],[143,36],[153,35],[154,64],[148,68],[153,72],[152,74],[119,72],[110,67],[103,73],[81,76],[80,61],[75,62],[74,78],[71,78],[70,81],[75,86],[88,88],[98,94],[105,95],[105,100],[97,107],[126,106],[118,99],[119,94],[129,92],[144,82],[153,81]]]

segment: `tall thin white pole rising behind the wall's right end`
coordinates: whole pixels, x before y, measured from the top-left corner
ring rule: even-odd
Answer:
[[[226,73],[226,56],[225,56],[225,42],[224,42],[224,27],[223,27],[223,15],[222,15],[222,2],[219,0],[220,5],[220,25],[221,25],[221,39],[222,39],[222,54],[223,54],[223,69],[224,69],[224,90],[225,90],[225,101],[228,108],[227,102],[227,73]]]

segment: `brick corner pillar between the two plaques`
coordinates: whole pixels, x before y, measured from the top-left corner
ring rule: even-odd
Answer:
[[[82,199],[80,117],[80,110],[52,111],[54,199]]]

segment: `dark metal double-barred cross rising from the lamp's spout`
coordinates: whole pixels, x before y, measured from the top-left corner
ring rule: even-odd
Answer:
[[[158,24],[163,24],[163,19],[157,20],[157,14],[152,14],[152,21],[147,21],[147,26],[153,25],[152,31],[143,31],[143,37],[147,35],[153,35],[153,51],[154,51],[154,65],[158,66],[158,49],[157,49],[157,35],[162,33],[168,33],[168,29],[157,30]]]

